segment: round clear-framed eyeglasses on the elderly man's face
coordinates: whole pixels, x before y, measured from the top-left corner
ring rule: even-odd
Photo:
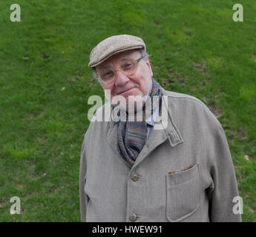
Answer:
[[[122,61],[121,64],[119,64],[117,70],[103,68],[98,72],[99,79],[105,84],[111,84],[113,81],[116,80],[117,71],[120,71],[121,73],[125,74],[125,76],[131,76],[137,72],[138,63],[143,58],[144,56],[141,56],[140,59],[137,60],[125,59],[124,61]]]

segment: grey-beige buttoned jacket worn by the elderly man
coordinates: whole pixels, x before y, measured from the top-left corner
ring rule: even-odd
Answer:
[[[91,122],[80,160],[82,221],[241,221],[219,121],[199,99],[161,89],[168,126],[151,131],[131,168],[116,148],[118,124]]]

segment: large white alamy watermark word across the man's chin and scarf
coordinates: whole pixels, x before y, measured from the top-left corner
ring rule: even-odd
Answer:
[[[154,129],[163,130],[168,125],[168,96],[162,96],[161,104],[159,96],[113,96],[111,98],[111,90],[105,90],[105,98],[111,103],[105,103],[104,115],[102,110],[98,110],[102,107],[102,98],[100,96],[90,96],[88,104],[93,105],[88,110],[89,121],[142,121],[143,113],[145,119],[152,116],[152,112],[156,112],[158,116],[155,118]],[[114,109],[111,110],[111,104],[114,105]],[[160,112],[161,106],[161,114]],[[96,112],[96,110],[98,110]],[[96,112],[96,114],[95,114]]]

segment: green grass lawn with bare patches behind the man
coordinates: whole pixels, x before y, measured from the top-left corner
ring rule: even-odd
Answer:
[[[22,21],[11,22],[10,1],[0,1],[0,221],[80,221],[87,100],[103,98],[88,58],[122,33],[142,37],[165,89],[196,96],[218,116],[243,221],[256,221],[255,0],[239,1],[243,22],[232,21],[231,0],[18,3]],[[12,196],[21,215],[10,215]]]

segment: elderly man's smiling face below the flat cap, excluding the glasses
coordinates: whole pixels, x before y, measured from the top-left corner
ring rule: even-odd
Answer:
[[[128,50],[118,53],[102,62],[102,64],[96,66],[96,72],[99,75],[99,72],[103,67],[109,67],[111,70],[117,70],[122,60],[131,59],[135,61],[140,59],[140,57],[141,54],[137,50]],[[131,76],[125,76],[125,74],[120,71],[116,71],[115,73],[116,79],[110,84],[105,84],[101,81],[104,90],[111,90],[111,98],[107,97],[108,100],[112,100],[114,96],[124,96],[127,102],[128,96],[147,96],[148,93],[150,93],[148,90],[151,87],[151,77],[153,76],[153,73],[148,57],[139,61],[137,71]]]

